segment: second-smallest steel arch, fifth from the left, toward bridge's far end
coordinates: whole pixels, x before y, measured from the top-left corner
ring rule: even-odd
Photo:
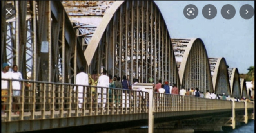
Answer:
[[[231,97],[241,98],[241,86],[239,72],[237,68],[228,68]]]

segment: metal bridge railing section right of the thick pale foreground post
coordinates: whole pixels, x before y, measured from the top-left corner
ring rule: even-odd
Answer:
[[[232,101],[154,93],[154,111],[198,111],[232,109]]]

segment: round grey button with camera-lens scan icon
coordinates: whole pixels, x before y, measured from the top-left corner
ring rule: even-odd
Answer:
[[[198,9],[195,5],[189,4],[183,9],[183,14],[188,19],[194,19],[198,15]]]

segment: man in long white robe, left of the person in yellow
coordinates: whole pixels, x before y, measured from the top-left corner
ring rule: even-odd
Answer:
[[[84,72],[84,67],[82,66],[80,68],[80,73],[76,74],[76,85],[89,85],[89,80],[88,80],[88,74]],[[78,86],[78,107],[82,108],[83,104],[83,89],[84,86]],[[86,97],[86,91],[87,88],[85,87],[85,96]],[[74,91],[76,91],[76,86],[74,87]]]

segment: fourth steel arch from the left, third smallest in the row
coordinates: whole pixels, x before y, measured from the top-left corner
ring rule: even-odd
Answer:
[[[231,95],[229,73],[225,58],[209,58],[209,63],[214,92],[216,94],[225,93]]]

